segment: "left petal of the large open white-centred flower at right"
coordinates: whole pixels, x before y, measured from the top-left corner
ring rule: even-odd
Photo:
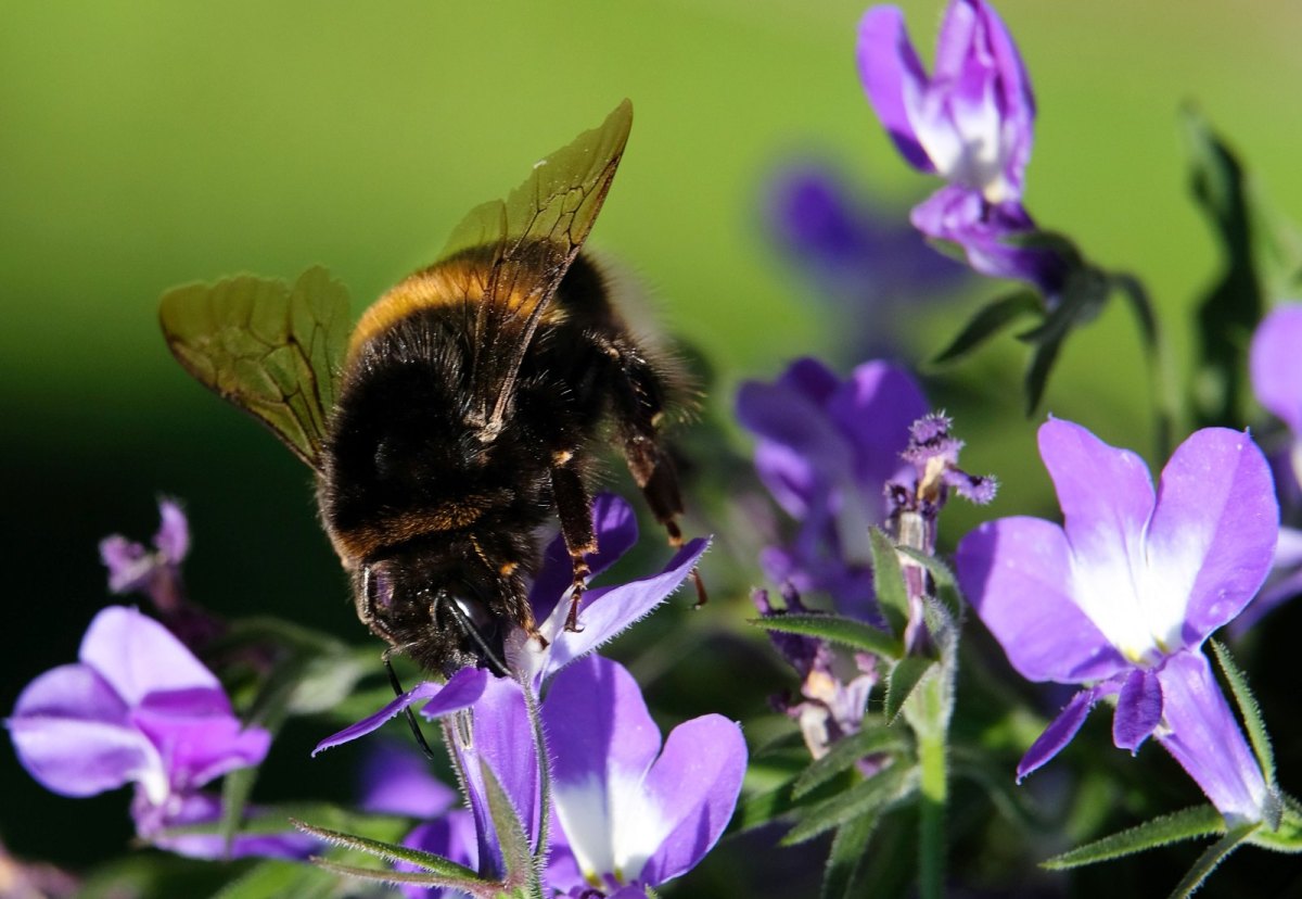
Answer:
[[[958,543],[958,582],[1029,680],[1082,683],[1128,667],[1072,597],[1062,529],[1029,517],[999,519]]]

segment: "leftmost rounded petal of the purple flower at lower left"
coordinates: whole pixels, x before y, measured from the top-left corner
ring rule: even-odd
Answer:
[[[143,778],[160,792],[167,787],[154,747],[130,726],[121,698],[85,664],[60,666],[31,681],[7,724],[22,766],[62,796],[91,796]]]

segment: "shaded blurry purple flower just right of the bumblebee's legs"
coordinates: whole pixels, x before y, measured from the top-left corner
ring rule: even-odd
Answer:
[[[742,384],[737,418],[759,438],[755,469],[798,522],[786,546],[762,555],[769,578],[825,592],[842,612],[876,620],[868,529],[891,512],[885,485],[911,472],[901,452],[926,413],[913,378],[885,362],[841,380],[805,358],[776,383]]]

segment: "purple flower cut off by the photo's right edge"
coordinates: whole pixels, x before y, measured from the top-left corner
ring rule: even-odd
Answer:
[[[1271,453],[1275,491],[1282,519],[1302,525],[1302,304],[1285,304],[1262,319],[1253,335],[1249,370],[1258,401],[1288,427],[1288,439]],[[1280,528],[1275,564],[1262,592],[1234,621],[1242,632],[1266,612],[1302,593],[1302,530]]]

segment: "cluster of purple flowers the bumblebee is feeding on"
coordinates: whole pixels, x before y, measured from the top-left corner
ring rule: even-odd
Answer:
[[[637,539],[629,507],[594,504],[599,554],[594,575]],[[469,809],[447,809],[406,844],[501,878],[506,859],[491,812],[486,771],[501,784],[534,852],[546,851],[543,885],[561,895],[643,896],[690,870],[732,817],[746,769],[738,726],[704,715],[661,741],[637,681],[592,649],[673,593],[704,552],[684,546],[658,575],[585,593],[582,631],[564,629],[570,560],[561,538],[548,547],[530,601],[547,644],[508,638],[510,676],[464,668],[445,684],[418,684],[376,714],[323,740],[316,752],[378,730],[408,706],[445,719]],[[536,705],[540,728],[530,709]],[[469,724],[467,724],[469,722]],[[549,808],[543,784],[549,783]],[[387,803],[392,808],[392,801]],[[434,810],[437,799],[424,803]],[[543,844],[544,823],[549,823]],[[409,866],[406,868],[409,869]],[[413,895],[421,895],[413,890]]]

